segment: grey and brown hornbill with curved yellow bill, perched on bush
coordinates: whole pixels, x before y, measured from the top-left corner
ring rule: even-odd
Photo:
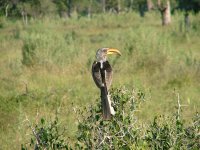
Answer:
[[[111,106],[109,88],[112,83],[112,67],[110,66],[107,55],[108,54],[121,55],[120,51],[114,48],[100,48],[96,53],[96,60],[92,65],[92,77],[95,84],[101,91],[101,104],[103,110],[103,119],[110,120],[111,115],[115,114]]]

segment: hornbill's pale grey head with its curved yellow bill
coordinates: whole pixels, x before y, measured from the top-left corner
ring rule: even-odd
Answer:
[[[100,48],[97,50],[96,53],[96,59],[97,61],[106,61],[107,60],[107,55],[110,54],[118,54],[121,56],[121,52],[115,48]]]

